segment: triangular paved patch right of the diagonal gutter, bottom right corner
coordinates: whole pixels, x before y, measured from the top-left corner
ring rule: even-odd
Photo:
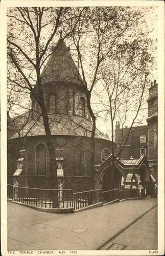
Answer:
[[[157,206],[108,242],[103,249],[157,250]],[[105,248],[106,247],[106,248]]]

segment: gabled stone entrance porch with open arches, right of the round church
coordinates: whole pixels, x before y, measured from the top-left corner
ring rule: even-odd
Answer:
[[[152,184],[153,180],[150,175],[150,167],[144,156],[141,156],[139,159],[115,159],[113,166],[112,168],[112,155],[101,165],[95,165],[95,189],[108,191],[119,188],[119,190],[123,190],[126,188],[127,175],[132,174],[134,186],[130,188],[138,189],[142,186],[146,196],[152,194],[153,189],[151,189],[151,186],[154,186],[154,184]]]

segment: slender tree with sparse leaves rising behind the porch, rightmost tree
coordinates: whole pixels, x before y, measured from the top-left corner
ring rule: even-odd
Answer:
[[[112,141],[112,172],[128,141],[130,133],[142,124],[143,112],[147,110],[147,96],[152,78],[154,58],[152,40],[133,40],[121,44],[122,53],[111,56],[111,65],[100,70],[100,82],[103,93],[100,94],[104,117],[110,123]],[[103,97],[106,95],[106,97]],[[102,100],[104,98],[105,100]],[[140,116],[141,115],[141,116]],[[115,122],[120,120],[120,144],[115,149]],[[123,134],[124,125],[130,122],[127,134]],[[135,127],[133,127],[135,126]],[[117,132],[117,131],[116,131]]]

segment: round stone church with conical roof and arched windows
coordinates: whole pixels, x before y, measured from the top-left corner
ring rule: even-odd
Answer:
[[[69,50],[60,38],[41,74],[42,90],[56,151],[58,185],[83,191],[89,189],[92,123],[83,81]],[[16,179],[19,186],[50,188],[43,120],[32,94],[31,100],[32,110],[8,123],[8,184]],[[96,129],[95,143],[95,164],[99,164],[107,151],[110,154],[111,142]]]

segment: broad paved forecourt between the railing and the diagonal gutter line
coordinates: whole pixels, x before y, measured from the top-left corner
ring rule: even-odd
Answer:
[[[96,250],[156,204],[145,198],[52,214],[8,202],[8,250]]]

